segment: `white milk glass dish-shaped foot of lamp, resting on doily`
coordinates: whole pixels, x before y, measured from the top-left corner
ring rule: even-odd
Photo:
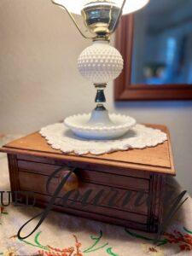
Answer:
[[[108,110],[77,114],[64,120],[64,124],[80,138],[112,140],[123,137],[136,125],[136,120],[121,114],[108,114]]]

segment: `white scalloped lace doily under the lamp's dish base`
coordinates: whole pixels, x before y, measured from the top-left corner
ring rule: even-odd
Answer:
[[[148,128],[145,125],[135,125],[124,137],[117,140],[91,141],[75,137],[62,123],[48,125],[39,131],[45,137],[51,148],[60,149],[64,153],[104,154],[129,148],[154,147],[167,140],[166,133]]]

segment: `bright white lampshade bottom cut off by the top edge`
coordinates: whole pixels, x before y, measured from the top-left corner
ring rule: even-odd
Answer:
[[[108,1],[108,0],[107,0]],[[75,15],[81,15],[81,10],[84,4],[89,3],[87,0],[54,0],[55,3],[64,5],[71,13]],[[125,7],[123,9],[123,15],[131,14],[138,9],[142,9],[147,5],[149,0],[126,0]],[[122,0],[113,0],[113,3],[117,6],[121,6]]]

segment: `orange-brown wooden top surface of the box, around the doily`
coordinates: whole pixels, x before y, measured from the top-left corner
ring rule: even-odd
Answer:
[[[41,137],[38,132],[35,132],[3,146],[0,151],[9,154],[28,154],[37,157],[86,162],[175,175],[176,172],[173,166],[170,136],[166,126],[148,126],[166,132],[168,141],[154,148],[130,149],[110,154],[86,154],[79,156],[75,154],[63,154],[60,150],[51,148],[44,137]]]

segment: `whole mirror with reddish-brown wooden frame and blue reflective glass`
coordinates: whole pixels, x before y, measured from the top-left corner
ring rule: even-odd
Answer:
[[[150,0],[116,33],[125,67],[116,101],[192,99],[192,0]]]

